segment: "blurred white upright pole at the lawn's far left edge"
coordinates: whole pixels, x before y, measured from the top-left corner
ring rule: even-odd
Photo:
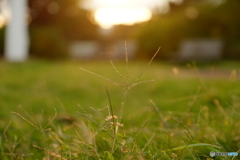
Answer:
[[[9,0],[10,21],[5,35],[5,58],[22,62],[28,57],[27,0]]]

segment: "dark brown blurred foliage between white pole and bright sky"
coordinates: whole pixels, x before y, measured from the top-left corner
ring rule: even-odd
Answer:
[[[73,41],[98,39],[98,26],[80,0],[29,0],[30,52],[44,58],[68,56]]]

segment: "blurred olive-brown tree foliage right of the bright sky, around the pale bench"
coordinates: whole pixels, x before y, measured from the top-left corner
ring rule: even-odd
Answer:
[[[165,15],[154,15],[137,31],[139,56],[151,57],[162,46],[159,58],[176,56],[184,39],[204,38],[224,41],[224,58],[240,58],[239,0],[185,0],[171,5]]]

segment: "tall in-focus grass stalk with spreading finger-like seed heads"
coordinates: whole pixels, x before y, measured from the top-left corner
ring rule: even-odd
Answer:
[[[146,80],[146,81],[140,81],[139,82],[139,79],[140,77],[142,76],[142,74],[147,70],[147,68],[150,66],[151,62],[153,61],[153,59],[155,58],[155,56],[158,54],[160,50],[160,47],[158,48],[158,50],[156,51],[156,53],[153,55],[153,57],[151,58],[151,60],[149,61],[149,63],[147,64],[147,66],[144,68],[144,70],[139,74],[139,76],[136,78],[136,80],[130,84],[129,82],[129,62],[128,62],[128,52],[127,52],[127,43],[125,42],[125,60],[126,60],[126,78],[123,78],[122,74],[119,72],[119,70],[115,67],[114,63],[112,61],[110,61],[111,63],[111,66],[113,67],[113,69],[115,70],[115,72],[118,74],[118,76],[120,77],[121,81],[123,84],[120,84],[118,82],[115,82],[109,78],[106,78],[104,76],[101,76],[99,74],[96,74],[94,72],[91,72],[91,71],[88,71],[82,67],[79,67],[82,71],[85,71],[89,74],[92,74],[92,75],[95,75],[99,78],[102,78],[104,80],[107,80],[109,82],[111,82],[112,84],[122,88],[124,90],[124,94],[123,94],[123,98],[122,98],[122,101],[121,101],[121,108],[120,108],[120,114],[119,116],[115,115],[114,113],[114,109],[113,109],[113,106],[112,106],[112,102],[111,102],[111,98],[110,98],[110,94],[109,94],[109,91],[106,87],[106,93],[107,93],[107,97],[108,97],[108,101],[109,101],[109,109],[110,109],[110,113],[108,115],[108,118],[106,118],[107,122],[108,120],[110,120],[111,122],[110,123],[105,123],[104,126],[101,127],[100,130],[98,130],[94,136],[96,136],[101,130],[107,130],[106,127],[107,125],[111,125],[110,128],[112,130],[112,134],[109,134],[112,138],[113,138],[113,141],[112,141],[112,149],[111,149],[111,154],[114,153],[115,149],[116,148],[116,142],[118,142],[117,140],[117,134],[118,134],[118,131],[119,131],[119,127],[123,127],[123,113],[124,113],[124,108],[125,108],[125,105],[126,105],[126,100],[127,100],[127,95],[128,95],[128,92],[129,90],[132,88],[132,87],[135,87],[137,85],[140,85],[142,83],[146,83],[146,82],[152,82],[153,80]],[[97,113],[97,115],[99,115],[101,117],[101,119],[103,120],[103,116],[94,109],[94,112]],[[92,121],[95,123],[95,120],[93,120],[88,114],[86,114],[85,112],[78,112],[80,115],[82,115],[83,117],[85,117],[86,119]],[[110,117],[110,118],[109,118]],[[116,118],[115,118],[116,117]],[[147,125],[147,123],[149,122],[149,120],[147,120],[147,122],[143,125],[143,127],[138,131],[138,133],[136,134],[136,137],[140,134],[140,132],[142,131],[142,129]],[[153,138],[153,137],[152,137]],[[151,138],[151,139],[152,139]],[[147,145],[150,143],[150,141],[145,145],[144,149],[147,147]],[[119,143],[120,144],[120,143]],[[123,145],[120,145],[119,148],[123,147]],[[108,153],[109,154],[109,153]]]

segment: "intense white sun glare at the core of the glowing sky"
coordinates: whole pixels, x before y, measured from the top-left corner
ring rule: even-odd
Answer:
[[[118,24],[132,25],[147,21],[152,14],[146,8],[99,8],[94,16],[102,28],[109,29]]]

